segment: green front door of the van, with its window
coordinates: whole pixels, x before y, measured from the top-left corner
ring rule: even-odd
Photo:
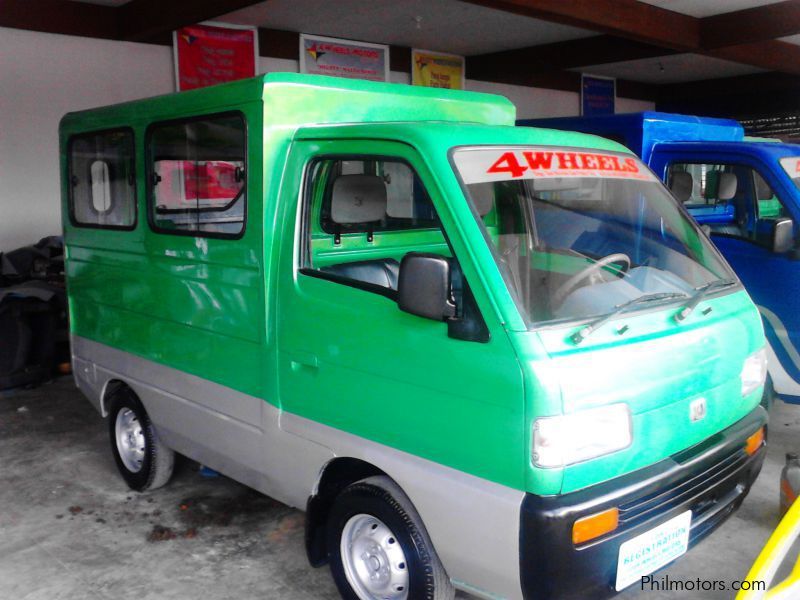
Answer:
[[[474,266],[453,256],[457,240],[440,220],[446,204],[420,157],[399,143],[300,142],[287,169],[277,306],[282,410],[521,489],[521,370],[475,289]],[[409,252],[452,259],[473,286],[488,341],[448,337],[445,322],[398,309]],[[305,435],[302,424],[282,418]]]

